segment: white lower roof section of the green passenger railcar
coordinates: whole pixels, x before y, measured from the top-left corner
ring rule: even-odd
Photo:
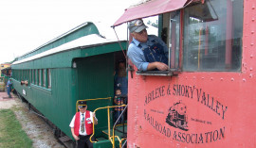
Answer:
[[[82,38],[79,38],[77,40],[74,40],[74,41],[66,42],[63,45],[52,48],[50,50],[47,50],[46,52],[37,54],[35,56],[15,61],[12,63],[12,65],[24,63],[24,62],[27,62],[27,61],[30,61],[33,59],[37,59],[37,58],[43,58],[43,57],[61,53],[61,52],[67,51],[67,50],[87,48],[87,47],[91,47],[91,46],[101,46],[103,44],[107,44],[107,43],[111,43],[111,42],[118,42],[118,40],[105,39],[105,38],[101,37],[101,35],[91,34],[91,35],[87,35]]]

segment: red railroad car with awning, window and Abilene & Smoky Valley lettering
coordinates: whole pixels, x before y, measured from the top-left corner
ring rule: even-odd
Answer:
[[[170,71],[128,62],[128,147],[256,147],[256,1],[151,0],[115,25],[155,15]]]

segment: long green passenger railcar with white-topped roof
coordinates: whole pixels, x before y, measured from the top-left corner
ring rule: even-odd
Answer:
[[[88,101],[91,111],[113,106],[114,71],[116,61],[124,58],[122,49],[126,41],[104,39],[96,25],[85,23],[15,61],[13,87],[72,139],[69,123],[78,100],[111,97]],[[106,110],[97,112],[97,118],[95,133],[101,137],[108,126]]]

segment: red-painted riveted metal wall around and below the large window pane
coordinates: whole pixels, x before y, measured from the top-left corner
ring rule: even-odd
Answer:
[[[255,1],[244,1],[241,72],[129,74],[128,147],[256,146],[255,6]],[[175,112],[179,119],[168,118]]]

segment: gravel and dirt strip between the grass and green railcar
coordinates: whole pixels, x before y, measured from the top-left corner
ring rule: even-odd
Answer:
[[[7,92],[0,92],[0,109],[11,108],[16,118],[20,121],[28,137],[33,140],[34,148],[64,148],[54,138],[53,130],[36,114],[28,110],[27,104],[12,94],[8,97]]]

